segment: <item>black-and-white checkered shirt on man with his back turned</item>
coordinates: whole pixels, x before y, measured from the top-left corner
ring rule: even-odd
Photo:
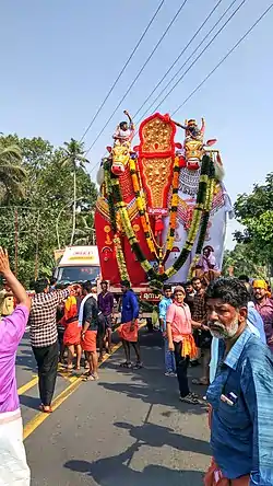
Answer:
[[[36,293],[33,297],[28,323],[31,344],[34,348],[44,348],[57,342],[57,306],[69,294],[69,290],[56,290],[50,293]]]

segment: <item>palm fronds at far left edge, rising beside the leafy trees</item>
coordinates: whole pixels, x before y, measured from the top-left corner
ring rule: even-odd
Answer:
[[[16,144],[4,147],[0,140],[0,183],[4,189],[1,192],[0,198],[23,196],[23,182],[26,173],[21,162],[22,153],[20,148]]]

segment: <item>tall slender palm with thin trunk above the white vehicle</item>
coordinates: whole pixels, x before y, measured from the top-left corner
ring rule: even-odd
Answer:
[[[84,157],[83,143],[71,138],[70,142],[64,142],[64,157],[62,159],[62,166],[70,166],[73,171],[73,220],[70,245],[73,244],[75,234],[75,213],[76,213],[76,167],[85,167],[88,160]]]

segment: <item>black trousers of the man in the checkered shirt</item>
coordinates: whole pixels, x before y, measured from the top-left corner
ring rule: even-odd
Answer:
[[[33,347],[38,366],[39,396],[44,405],[51,405],[59,361],[58,342],[44,348]]]

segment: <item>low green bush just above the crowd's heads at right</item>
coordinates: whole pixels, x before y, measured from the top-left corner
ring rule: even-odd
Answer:
[[[264,277],[264,261],[250,243],[237,243],[234,250],[225,251],[222,273],[226,276],[230,273],[235,277]]]

